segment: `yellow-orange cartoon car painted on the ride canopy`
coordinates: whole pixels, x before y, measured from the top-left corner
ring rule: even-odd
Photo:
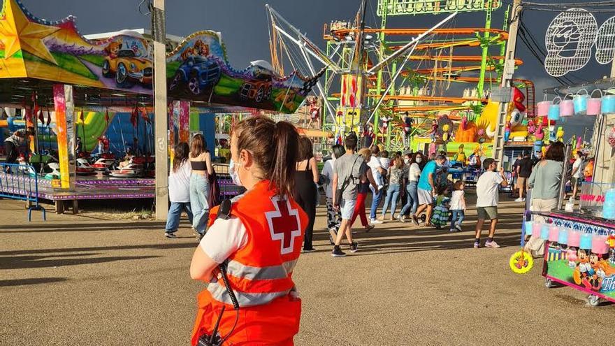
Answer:
[[[103,76],[114,77],[117,87],[129,88],[136,82],[152,86],[152,62],[135,56],[135,52],[122,49],[117,55],[108,55],[103,62]]]

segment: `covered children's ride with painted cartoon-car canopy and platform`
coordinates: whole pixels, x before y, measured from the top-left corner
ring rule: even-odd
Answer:
[[[0,132],[34,128],[20,148],[18,170],[6,167],[0,189],[54,201],[154,197],[153,63],[150,37],[117,31],[88,39],[74,17],[36,17],[19,0],[3,1],[0,13]],[[222,35],[198,31],[169,45],[169,157],[192,134],[205,136],[210,152],[217,115],[294,113],[319,74],[280,75],[265,61],[230,66]],[[235,117],[233,117],[235,118]],[[224,151],[224,150],[223,150]],[[19,178],[16,173],[26,172]],[[22,180],[36,180],[36,192]]]

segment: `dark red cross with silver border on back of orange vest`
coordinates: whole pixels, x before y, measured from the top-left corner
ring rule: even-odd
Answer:
[[[278,196],[271,197],[271,202],[275,210],[265,213],[271,239],[280,240],[280,253],[289,254],[293,252],[295,238],[301,236],[299,210],[293,209],[289,200]]]

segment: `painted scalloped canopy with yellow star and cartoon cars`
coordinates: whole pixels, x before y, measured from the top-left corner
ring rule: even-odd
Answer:
[[[0,78],[35,78],[68,85],[152,94],[151,42],[133,31],[103,40],[82,36],[74,17],[50,22],[19,0],[0,13]],[[188,36],[167,55],[168,96],[293,113],[316,82],[298,72],[280,76],[266,62],[233,69],[213,31]]]

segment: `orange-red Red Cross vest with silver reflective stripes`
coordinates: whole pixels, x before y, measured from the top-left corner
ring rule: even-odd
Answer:
[[[247,232],[247,244],[231,254],[227,275],[240,305],[237,325],[225,345],[293,345],[299,331],[301,301],[295,298],[292,273],[301,254],[307,215],[291,198],[275,196],[264,180],[233,201],[231,215],[239,217]],[[212,208],[209,224],[218,207]],[[229,335],[237,312],[224,282],[208,284],[198,294],[198,312],[192,345],[203,333],[210,334],[222,315],[218,333]]]

